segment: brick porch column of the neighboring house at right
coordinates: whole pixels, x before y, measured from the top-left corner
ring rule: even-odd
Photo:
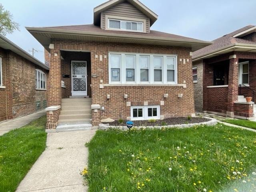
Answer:
[[[236,55],[229,58],[227,116],[234,117],[234,101],[238,100],[238,58]]]

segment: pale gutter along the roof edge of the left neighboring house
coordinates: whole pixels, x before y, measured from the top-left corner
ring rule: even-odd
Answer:
[[[14,50],[11,50],[13,52],[15,52],[16,54],[22,56],[23,58],[26,58],[27,60],[33,62],[34,64],[49,70],[49,67],[46,66],[43,62],[41,62],[40,60],[38,60],[37,58],[31,56],[28,52],[26,52],[24,49],[20,48],[18,45],[14,44],[12,41],[8,40],[8,38],[4,37],[3,35],[0,35],[0,39],[3,40],[6,44],[12,46],[14,49],[22,52],[23,54],[25,54],[25,56],[20,55],[19,53],[15,52]]]

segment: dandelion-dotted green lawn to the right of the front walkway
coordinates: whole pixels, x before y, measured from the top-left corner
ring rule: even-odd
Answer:
[[[98,130],[86,145],[90,192],[255,191],[256,134],[247,130]]]

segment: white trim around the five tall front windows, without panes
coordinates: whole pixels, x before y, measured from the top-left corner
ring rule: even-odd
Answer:
[[[121,57],[121,66],[120,66],[120,82],[111,82],[111,64],[110,64],[110,55],[111,54],[119,54]],[[135,82],[126,82],[126,60],[125,55],[135,55]],[[149,56],[149,82],[141,82],[140,81],[140,56]],[[163,57],[163,66],[162,66],[162,82],[154,82],[154,56],[162,56]],[[168,82],[167,81],[167,63],[166,57],[175,57],[175,81]],[[124,53],[124,52],[109,52],[108,53],[108,69],[109,69],[109,84],[174,84],[178,83],[178,56],[177,55],[167,55],[167,54],[137,54],[137,53]]]

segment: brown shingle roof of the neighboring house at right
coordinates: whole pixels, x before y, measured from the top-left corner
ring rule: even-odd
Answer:
[[[248,26],[245,26],[241,29],[238,29],[234,32],[231,32],[229,34],[226,34],[220,38],[217,38],[215,40],[213,40],[213,44],[209,45],[209,46],[206,46],[202,49],[199,49],[195,52],[193,52],[193,56],[192,58],[196,58],[200,55],[204,55],[204,54],[207,54],[207,53],[210,53],[214,50],[218,50],[222,47],[225,47],[225,46],[228,46],[228,45],[231,45],[231,44],[234,44],[234,43],[244,43],[244,44],[256,44],[256,42],[253,42],[253,41],[249,41],[249,40],[244,40],[244,39],[241,39],[241,38],[234,38],[232,36],[240,33],[240,32],[243,32],[245,30],[248,30],[250,28],[254,27],[253,25],[248,25]]]

